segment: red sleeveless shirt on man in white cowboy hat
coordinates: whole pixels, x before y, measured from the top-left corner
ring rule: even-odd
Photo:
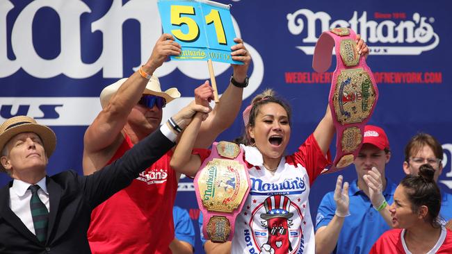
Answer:
[[[132,146],[126,136],[107,164]],[[92,211],[88,229],[92,253],[171,253],[168,246],[174,239],[172,207],[177,192],[176,172],[170,168],[171,156],[172,151],[168,151],[129,187]]]

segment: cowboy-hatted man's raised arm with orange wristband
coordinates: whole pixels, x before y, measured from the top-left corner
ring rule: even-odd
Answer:
[[[163,34],[157,40],[152,50],[152,55],[143,65],[142,70],[152,75],[168,56],[179,55],[179,53],[180,45],[174,42],[174,37],[169,34]],[[111,153],[111,151],[115,150],[111,146],[119,145],[122,140],[121,130],[127,122],[127,116],[140,100],[147,82],[148,79],[143,78],[138,71],[132,74],[120,86],[118,91],[111,97],[108,105],[102,109],[88,127],[83,138],[84,174],[93,173],[100,166],[99,164],[103,166],[106,162],[96,163],[97,153]],[[99,158],[106,157],[108,156],[101,155]]]

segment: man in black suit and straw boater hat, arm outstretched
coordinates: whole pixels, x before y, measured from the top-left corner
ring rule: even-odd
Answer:
[[[209,111],[191,104],[172,118],[184,128],[195,112]],[[0,126],[0,171],[13,180],[0,189],[0,253],[90,253],[86,234],[92,210],[161,158],[176,138],[163,124],[90,176],[75,171],[47,176],[55,133],[31,117],[7,119]]]

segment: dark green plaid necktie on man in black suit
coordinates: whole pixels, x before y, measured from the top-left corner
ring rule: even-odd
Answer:
[[[49,222],[49,211],[42,203],[38,196],[39,185],[31,185],[30,210],[33,218],[33,225],[35,226],[35,235],[39,242],[45,242],[47,237],[47,223]]]

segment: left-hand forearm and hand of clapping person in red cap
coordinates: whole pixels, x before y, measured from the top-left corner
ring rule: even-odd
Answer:
[[[344,183],[342,188],[342,176],[337,177],[336,189],[334,189],[334,202],[336,212],[327,226],[321,226],[316,231],[316,253],[332,253],[336,248],[339,233],[344,225],[344,219],[350,212],[348,211],[348,183]]]

